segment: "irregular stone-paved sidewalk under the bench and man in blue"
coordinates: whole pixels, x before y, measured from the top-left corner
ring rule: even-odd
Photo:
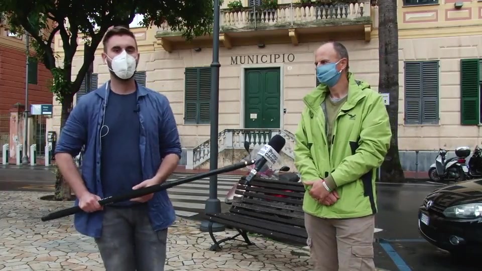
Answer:
[[[46,194],[0,192],[0,271],[104,270],[93,239],[75,231],[72,217],[40,220],[42,215],[72,204],[40,200],[43,195]],[[222,251],[209,251],[209,234],[198,228],[197,222],[182,218],[170,228],[166,270],[312,269],[308,251],[262,238],[251,237],[256,243],[252,246],[233,242],[224,245]]]

